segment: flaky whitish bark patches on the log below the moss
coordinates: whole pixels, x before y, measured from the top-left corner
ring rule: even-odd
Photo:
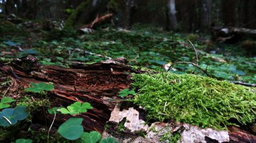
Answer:
[[[166,134],[181,134],[181,140],[179,143],[191,143],[191,142],[201,142],[206,143],[205,137],[208,137],[212,140],[216,140],[217,142],[229,142],[228,131],[218,131],[211,128],[203,129],[197,126],[193,126],[190,124],[181,124],[179,122],[173,122],[170,124],[166,124],[163,122],[154,122],[149,127],[143,120],[139,120],[139,112],[133,107],[129,107],[129,109],[123,109],[120,111],[121,103],[117,103],[115,109],[113,109],[110,119],[110,122],[115,122],[119,124],[123,118],[126,117],[125,128],[131,130],[131,132],[135,133],[136,131],[146,132],[145,138],[138,136],[137,138],[131,138],[131,136],[122,136],[121,138],[115,137],[116,140],[123,143],[139,143],[139,142],[154,142],[154,143],[162,143],[168,142],[168,140],[160,141],[160,138]],[[173,135],[174,135],[173,134]],[[108,132],[104,131],[102,134],[103,138],[107,138],[111,136]]]

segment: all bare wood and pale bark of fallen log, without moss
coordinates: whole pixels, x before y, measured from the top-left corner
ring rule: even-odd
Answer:
[[[67,107],[67,105],[75,101],[91,103],[94,107],[93,109],[88,109],[88,112],[74,116],[83,117],[82,124],[86,131],[96,130],[103,132],[104,126],[108,122],[110,126],[108,126],[108,130],[104,131],[104,136],[109,136],[108,133],[117,131],[118,124],[125,118],[124,126],[127,130],[118,131],[119,137],[123,136],[121,139],[115,136],[115,138],[119,138],[120,141],[124,142],[125,140],[127,142],[132,142],[132,140],[134,142],[139,142],[139,140],[141,142],[159,142],[160,135],[170,131],[173,133],[180,132],[182,136],[187,136],[187,139],[184,137],[184,140],[189,140],[191,135],[186,134],[194,134],[195,130],[199,134],[193,140],[215,142],[218,139],[228,142],[226,132],[204,130],[196,126],[173,121],[147,125],[145,122],[146,114],[141,107],[127,105],[122,109],[121,104],[123,102],[121,97],[118,97],[118,92],[121,89],[130,87],[130,73],[142,72],[133,70],[131,66],[128,66],[125,58],[106,60],[95,64],[74,62],[71,68],[63,68],[60,66],[42,66],[38,64],[34,56],[28,55],[13,60],[11,63],[0,63],[0,74],[3,78],[9,77],[11,79],[9,87],[6,89],[0,88],[0,92],[14,99],[26,95],[36,101],[38,100],[38,95],[24,93],[24,88],[30,86],[30,82],[52,82],[55,89],[47,93],[47,97],[51,101],[51,107]],[[46,115],[46,122],[50,124],[54,116],[43,112],[43,110],[34,113],[33,124],[44,124],[44,114]],[[59,126],[70,117],[71,115],[57,115],[55,126]],[[150,126],[153,125],[160,130],[157,135],[150,131]],[[230,142],[256,141],[256,136],[253,132],[236,127],[230,127],[228,130]],[[137,132],[146,132],[146,138],[138,136]],[[184,140],[183,142],[185,142]]]

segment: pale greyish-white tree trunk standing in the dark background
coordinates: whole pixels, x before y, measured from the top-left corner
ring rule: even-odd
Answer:
[[[168,21],[170,21],[169,23],[171,30],[177,30],[175,0],[168,1]]]

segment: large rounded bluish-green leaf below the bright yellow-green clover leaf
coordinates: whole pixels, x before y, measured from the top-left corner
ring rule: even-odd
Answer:
[[[67,140],[77,140],[84,133],[84,128],[81,125],[83,118],[71,117],[69,120],[61,124],[58,129],[58,133]]]

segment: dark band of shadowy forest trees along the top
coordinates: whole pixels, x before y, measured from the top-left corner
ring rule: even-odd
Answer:
[[[92,21],[97,14],[112,12],[115,24],[123,28],[134,23],[179,32],[205,32],[211,26],[256,28],[255,0],[2,0],[0,7],[6,16],[13,13],[24,19],[65,21],[82,3],[86,5],[77,13],[75,26]]]

